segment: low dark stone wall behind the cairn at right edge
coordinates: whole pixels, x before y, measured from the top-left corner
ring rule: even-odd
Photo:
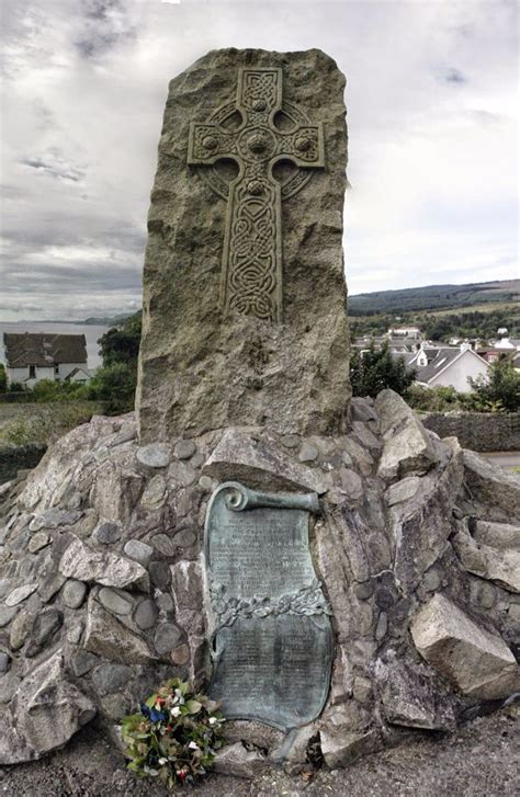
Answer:
[[[471,451],[520,451],[520,412],[432,412],[420,415],[425,426],[440,437],[459,437]]]

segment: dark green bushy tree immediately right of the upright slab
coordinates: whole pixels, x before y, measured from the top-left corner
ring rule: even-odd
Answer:
[[[407,368],[403,357],[394,358],[385,341],[377,350],[372,343],[369,351],[354,349],[350,358],[350,382],[354,396],[372,396],[389,387],[400,396],[416,377],[412,368]]]

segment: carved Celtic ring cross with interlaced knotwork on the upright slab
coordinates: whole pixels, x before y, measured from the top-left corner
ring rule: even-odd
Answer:
[[[237,112],[241,122],[231,129]],[[276,127],[279,115],[287,129]],[[219,160],[234,160],[238,167],[229,183],[215,167]],[[287,160],[298,169],[281,184],[272,169]],[[223,309],[281,321],[282,200],[308,182],[308,169],[325,166],[321,123],[310,124],[302,111],[282,100],[281,69],[240,68],[236,101],[219,107],[206,124],[191,123],[188,163],[211,167],[203,171],[205,179],[227,198]]]

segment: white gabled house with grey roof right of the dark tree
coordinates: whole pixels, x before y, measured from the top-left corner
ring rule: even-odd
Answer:
[[[420,349],[407,362],[417,369],[416,382],[426,387],[453,387],[457,392],[471,392],[468,378],[486,376],[489,364],[464,342],[457,349]]]

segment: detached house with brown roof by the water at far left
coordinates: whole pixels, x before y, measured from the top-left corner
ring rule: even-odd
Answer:
[[[84,384],[90,379],[84,334],[4,332],[8,383],[34,387],[42,379]]]

